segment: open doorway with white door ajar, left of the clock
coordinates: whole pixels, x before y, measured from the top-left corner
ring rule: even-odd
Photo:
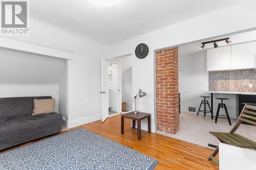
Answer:
[[[133,109],[132,56],[102,59],[102,122]]]

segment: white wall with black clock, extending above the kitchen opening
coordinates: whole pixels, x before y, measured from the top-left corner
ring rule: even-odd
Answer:
[[[227,15],[228,11],[228,15]],[[246,19],[244,19],[246,18]],[[156,130],[155,115],[155,50],[175,46],[206,38],[225,35],[256,27],[256,14],[246,8],[230,6],[191,18],[175,25],[168,26],[150,33],[136,36],[113,44],[109,49],[109,58],[132,54],[133,93],[139,88],[147,95],[138,100],[138,110],[152,114],[152,131]],[[239,24],[238,24],[239,23]],[[149,47],[148,56],[138,59],[134,49],[139,43]],[[142,129],[147,129],[146,120]]]

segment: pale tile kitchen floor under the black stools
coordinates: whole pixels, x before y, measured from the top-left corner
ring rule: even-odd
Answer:
[[[218,118],[215,124],[215,119],[212,120],[209,115],[204,118],[202,114],[197,116],[196,113],[181,112],[180,128],[175,135],[161,131],[157,133],[208,147],[208,143],[218,145],[219,142],[209,131],[229,132],[236,122],[237,119],[231,119],[230,126],[226,118]],[[256,141],[256,126],[241,124],[236,133]]]

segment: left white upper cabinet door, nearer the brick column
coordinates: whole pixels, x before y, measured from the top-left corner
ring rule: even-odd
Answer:
[[[207,71],[231,69],[231,46],[207,49]]]

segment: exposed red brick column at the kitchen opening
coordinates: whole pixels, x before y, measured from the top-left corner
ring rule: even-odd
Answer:
[[[179,128],[178,47],[156,52],[157,130],[175,134]]]

